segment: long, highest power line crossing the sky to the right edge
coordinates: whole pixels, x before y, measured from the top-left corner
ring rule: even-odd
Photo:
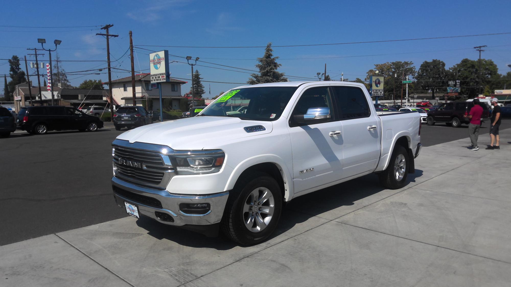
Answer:
[[[379,41],[328,43],[328,44],[272,45],[272,47],[305,47],[305,46],[327,46],[327,45],[345,45],[345,44],[366,44],[366,43],[383,43],[383,42],[399,42],[399,41],[415,41],[415,40],[448,39],[448,38],[477,37],[477,36],[491,36],[491,35],[505,35],[505,34],[511,34],[511,32],[490,33],[490,34],[476,34],[476,35],[462,35],[462,36],[444,36],[444,37],[428,37],[428,38],[379,40]],[[173,48],[265,48],[266,47],[266,46],[163,46],[163,45],[137,45],[137,46],[145,46],[145,47],[173,47]]]

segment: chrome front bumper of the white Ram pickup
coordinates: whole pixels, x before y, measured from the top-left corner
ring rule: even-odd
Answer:
[[[210,225],[219,223],[222,219],[225,203],[229,196],[229,192],[210,195],[171,194],[167,192],[167,190],[135,185],[115,176],[112,177],[111,182],[113,196],[117,205],[125,208],[124,202],[135,204],[138,206],[138,212],[140,214],[150,217],[160,223],[174,226]],[[145,200],[148,197],[151,198],[152,201]],[[159,206],[156,207],[151,203],[154,200],[161,203],[161,208]],[[188,214],[180,210],[180,203],[209,203],[211,208],[205,214]],[[168,214],[168,216],[172,217],[173,221],[169,221],[168,217],[162,218],[160,216],[161,214],[157,215],[156,212]]]

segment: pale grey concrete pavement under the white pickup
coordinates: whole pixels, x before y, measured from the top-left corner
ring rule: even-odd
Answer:
[[[132,217],[0,247],[0,286],[508,286],[511,129],[423,148],[402,189],[365,176],[299,197],[270,240]]]

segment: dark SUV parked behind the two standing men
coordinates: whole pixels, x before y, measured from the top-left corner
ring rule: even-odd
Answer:
[[[461,124],[469,124],[470,119],[463,115],[468,115],[470,109],[474,106],[472,102],[450,102],[440,105],[436,110],[428,111],[428,126],[435,123],[446,123],[448,126],[459,128]],[[486,105],[482,107],[481,121],[490,118],[490,111]]]

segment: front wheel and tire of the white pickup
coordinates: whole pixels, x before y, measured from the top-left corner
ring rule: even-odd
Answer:
[[[277,227],[282,192],[277,181],[262,172],[240,178],[229,193],[220,228],[242,245],[258,244]]]

